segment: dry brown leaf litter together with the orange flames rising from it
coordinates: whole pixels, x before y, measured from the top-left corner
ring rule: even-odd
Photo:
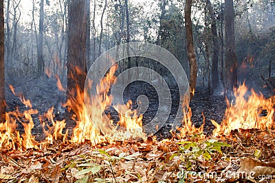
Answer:
[[[192,113],[189,109],[183,126],[178,129],[180,133],[173,134],[173,138],[157,141],[154,137],[146,138],[146,134],[142,132],[142,115],[139,116],[135,110],[131,110],[130,103],[126,104],[129,110],[120,111],[117,125],[104,123],[102,113],[111,105],[111,96],[107,94],[115,80],[115,69],[111,69],[102,80],[97,88],[98,95],[91,98],[87,109],[81,102],[81,93],[75,99],[79,105],[70,106],[70,101],[67,101],[67,106],[72,110],[77,108],[78,111],[74,116],[76,127],[70,140],[66,121],[54,120],[53,108],[50,108],[43,116],[39,116],[45,141],[36,141],[32,135],[32,117],[38,111],[32,108],[29,100],[19,95],[28,110],[8,112],[6,121],[0,124],[1,180],[234,182],[242,179],[236,176],[229,178],[224,175],[225,171],[236,173],[241,170],[257,171],[258,174],[271,176],[269,179],[245,178],[244,182],[270,182],[274,178],[274,97],[265,99],[263,95],[257,95],[252,90],[252,95],[245,99],[248,88],[242,84],[235,90],[236,100],[227,102],[228,108],[221,125],[212,121],[216,127],[212,136],[203,134],[203,125],[199,128],[192,125]],[[10,88],[14,93],[14,88]],[[120,106],[115,108],[120,110]],[[87,114],[87,110],[93,112],[91,116]],[[45,123],[44,119],[52,125]],[[23,125],[23,133],[17,130],[18,123]],[[126,130],[118,130],[119,126]],[[104,128],[106,132],[106,127],[109,127],[109,132],[103,136],[100,130]],[[123,137],[122,140],[143,140],[115,141],[118,137]],[[258,159],[262,160],[259,166],[246,166],[250,162],[259,162]],[[232,170],[232,164],[241,168]],[[203,175],[216,173],[217,176],[201,177],[201,172]]]

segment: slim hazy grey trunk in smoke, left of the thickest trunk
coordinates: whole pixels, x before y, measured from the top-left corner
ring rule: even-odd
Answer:
[[[39,76],[44,74],[43,29],[44,29],[44,0],[41,0],[40,11],[39,11],[39,40],[37,44],[37,66],[38,66]]]

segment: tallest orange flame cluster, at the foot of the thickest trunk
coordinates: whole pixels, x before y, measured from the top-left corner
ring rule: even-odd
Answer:
[[[73,143],[83,143],[88,140],[92,144],[96,144],[106,140],[120,139],[124,141],[129,138],[146,138],[146,134],[142,132],[142,115],[138,116],[135,110],[129,108],[131,101],[126,104],[128,110],[122,110],[122,106],[125,107],[124,104],[114,106],[120,117],[117,125],[114,125],[113,121],[104,115],[104,110],[111,106],[112,96],[108,93],[111,85],[115,82],[114,73],[117,69],[117,64],[111,66],[109,73],[102,79],[100,85],[96,86],[97,95],[91,96],[88,101],[85,101],[85,104],[82,103],[83,105],[72,106],[72,108],[77,107],[76,111],[79,112],[76,114],[78,120],[72,136]],[[85,95],[81,95],[79,88],[77,92],[76,101],[84,101],[82,97]],[[88,96],[87,93],[86,96]],[[100,135],[100,132],[103,132],[105,136]]]

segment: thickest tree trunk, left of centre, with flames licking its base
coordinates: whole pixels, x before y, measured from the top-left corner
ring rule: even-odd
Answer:
[[[83,95],[87,75],[86,24],[87,0],[71,0],[68,20],[67,98],[72,102],[76,95]],[[80,89],[80,94],[77,93],[77,88]],[[76,104],[78,103],[72,103],[72,106]]]

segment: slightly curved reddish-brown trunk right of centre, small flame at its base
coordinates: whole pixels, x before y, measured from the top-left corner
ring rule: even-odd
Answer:
[[[184,18],[185,18],[185,28],[186,28],[186,43],[187,43],[187,54],[190,66],[190,98],[194,96],[194,91],[197,82],[197,60],[195,57],[195,49],[193,44],[193,34],[192,34],[192,21],[191,21],[191,7],[192,0],[186,0],[186,5],[184,8]]]

